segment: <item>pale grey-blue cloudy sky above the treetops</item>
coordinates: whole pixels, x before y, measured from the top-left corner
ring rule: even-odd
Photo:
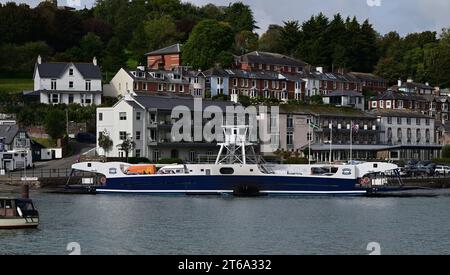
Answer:
[[[183,0],[196,5],[214,3],[228,5],[237,0]],[[376,30],[382,34],[395,30],[404,35],[425,30],[440,31],[450,27],[449,0],[240,0],[249,4],[264,32],[269,24],[282,24],[286,20],[308,19],[311,15],[323,12],[328,16],[340,12],[344,16],[356,15],[358,19],[369,18]],[[369,6],[368,2],[381,2],[380,6]],[[7,0],[0,0],[1,3]],[[22,0],[36,5],[39,0]],[[80,7],[90,7],[94,0],[59,0],[60,5],[81,3]]]

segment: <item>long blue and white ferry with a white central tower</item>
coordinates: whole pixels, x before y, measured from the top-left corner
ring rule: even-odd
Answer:
[[[243,126],[245,127],[245,126]],[[74,171],[99,174],[97,193],[187,195],[367,195],[390,191],[388,178],[398,166],[385,162],[355,165],[280,165],[248,163],[246,131],[225,127],[225,142],[214,164],[154,166],[122,162],[83,162]],[[225,155],[223,155],[223,153]],[[136,172],[138,171],[138,172]]]

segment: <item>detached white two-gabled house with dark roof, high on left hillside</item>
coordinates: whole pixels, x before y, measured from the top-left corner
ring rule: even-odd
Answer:
[[[42,63],[34,69],[34,94],[44,104],[102,104],[102,73],[94,57],[92,63]]]

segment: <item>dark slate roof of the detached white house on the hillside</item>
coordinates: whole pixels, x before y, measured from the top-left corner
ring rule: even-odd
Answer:
[[[102,72],[93,63],[42,63],[37,64],[41,78],[60,78],[67,68],[73,64],[85,79],[102,79]]]

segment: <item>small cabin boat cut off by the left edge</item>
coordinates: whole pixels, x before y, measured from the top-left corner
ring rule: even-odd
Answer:
[[[39,213],[30,199],[0,198],[0,229],[37,228]]]

